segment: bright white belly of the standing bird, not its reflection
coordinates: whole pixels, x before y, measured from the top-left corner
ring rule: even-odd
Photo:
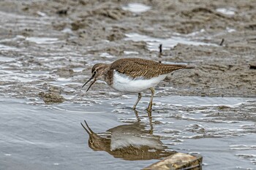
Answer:
[[[114,70],[113,73],[113,85],[112,88],[121,92],[133,92],[139,93],[148,88],[153,88],[159,82],[165,79],[167,74],[159,75],[159,77],[153,77],[151,79],[132,79],[125,74],[118,73]]]

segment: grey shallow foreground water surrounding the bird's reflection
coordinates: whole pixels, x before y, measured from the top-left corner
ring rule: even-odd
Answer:
[[[101,136],[110,128],[139,121],[143,125],[140,131],[152,130],[167,147],[166,152],[202,155],[203,169],[255,168],[255,122],[236,120],[231,116],[236,113],[227,111],[244,107],[244,112],[250,113],[246,108],[254,98],[156,97],[151,123],[144,111],[148,99],[143,98],[136,117],[129,109],[135,96],[91,106],[1,98],[1,169],[142,169],[157,161],[124,161],[91,150],[89,136],[80,125],[83,120]],[[219,106],[226,106],[226,111]],[[230,117],[224,117],[224,112]]]

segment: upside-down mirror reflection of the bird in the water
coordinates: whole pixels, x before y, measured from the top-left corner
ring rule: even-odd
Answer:
[[[85,120],[86,123],[86,120]],[[89,134],[89,147],[94,151],[105,151],[115,158],[124,160],[150,160],[173,155],[174,151],[166,151],[159,136],[151,134],[153,129],[146,130],[140,122],[129,125],[118,125],[108,130],[108,135],[95,134],[86,123],[83,128]],[[152,127],[152,126],[151,126]]]

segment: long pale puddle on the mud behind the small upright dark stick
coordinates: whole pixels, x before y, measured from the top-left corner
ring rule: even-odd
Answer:
[[[170,47],[174,47],[178,45],[178,43],[184,44],[184,45],[213,45],[217,46],[215,44],[206,43],[206,42],[196,42],[189,38],[181,37],[181,36],[171,36],[169,39],[161,39],[161,38],[154,38],[151,36],[141,35],[137,33],[130,33],[125,34],[127,38],[125,40],[132,40],[134,42],[140,42],[144,41],[147,42],[148,50],[159,50],[159,45],[163,45],[163,49],[167,50],[170,49]]]

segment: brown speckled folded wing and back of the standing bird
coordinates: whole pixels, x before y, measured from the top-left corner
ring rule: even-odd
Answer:
[[[149,61],[140,58],[124,58],[113,62],[110,70],[116,70],[132,78],[145,77],[151,79],[161,74],[168,74],[178,69],[186,69],[185,65],[162,64],[157,61]]]

